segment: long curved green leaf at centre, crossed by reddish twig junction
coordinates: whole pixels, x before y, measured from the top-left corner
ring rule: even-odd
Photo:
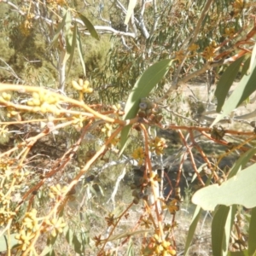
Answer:
[[[131,90],[125,105],[125,120],[133,119],[136,117],[140,99],[148,96],[154,86],[158,84],[160,79],[166,75],[170,66],[172,65],[172,61],[174,60],[162,60],[154,63],[151,67],[148,67],[148,69],[141,75],[139,79],[137,79],[137,82]],[[121,131],[121,146],[119,155],[121,155],[125,150],[125,145],[127,143],[130,130],[131,125],[126,125]]]

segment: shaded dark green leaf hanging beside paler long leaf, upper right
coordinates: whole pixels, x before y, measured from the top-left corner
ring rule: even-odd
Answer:
[[[217,97],[218,105],[216,111],[219,113],[221,111],[221,108],[224,105],[226,96],[228,95],[228,92],[230,90],[231,85],[234,83],[234,80],[236,79],[237,73],[239,71],[239,68],[241,67],[241,62],[243,61],[243,57],[239,58],[235,62],[233,62],[218,81],[217,88],[215,90],[214,95]]]

